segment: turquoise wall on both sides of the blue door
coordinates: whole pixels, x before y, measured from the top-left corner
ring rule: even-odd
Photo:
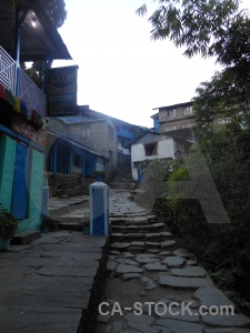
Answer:
[[[11,211],[16,140],[0,137],[0,202]],[[41,223],[41,201],[44,155],[30,149],[28,219],[20,220],[18,231],[38,230]]]

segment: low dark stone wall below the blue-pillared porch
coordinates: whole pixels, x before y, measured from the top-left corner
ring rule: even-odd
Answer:
[[[89,185],[94,182],[91,178],[76,178],[62,173],[47,173],[50,196],[89,194]]]

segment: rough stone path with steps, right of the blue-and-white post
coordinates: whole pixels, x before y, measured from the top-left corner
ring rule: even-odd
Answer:
[[[110,216],[106,303],[94,333],[250,332],[250,320],[129,192],[111,190]]]

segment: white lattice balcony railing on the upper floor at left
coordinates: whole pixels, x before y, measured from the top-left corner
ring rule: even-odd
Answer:
[[[0,46],[0,83],[16,94],[16,61]],[[18,97],[30,109],[46,115],[46,95],[29,75],[19,69]]]

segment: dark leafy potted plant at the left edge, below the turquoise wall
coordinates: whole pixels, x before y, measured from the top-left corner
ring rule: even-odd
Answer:
[[[18,229],[18,220],[0,204],[0,236],[10,239]]]

